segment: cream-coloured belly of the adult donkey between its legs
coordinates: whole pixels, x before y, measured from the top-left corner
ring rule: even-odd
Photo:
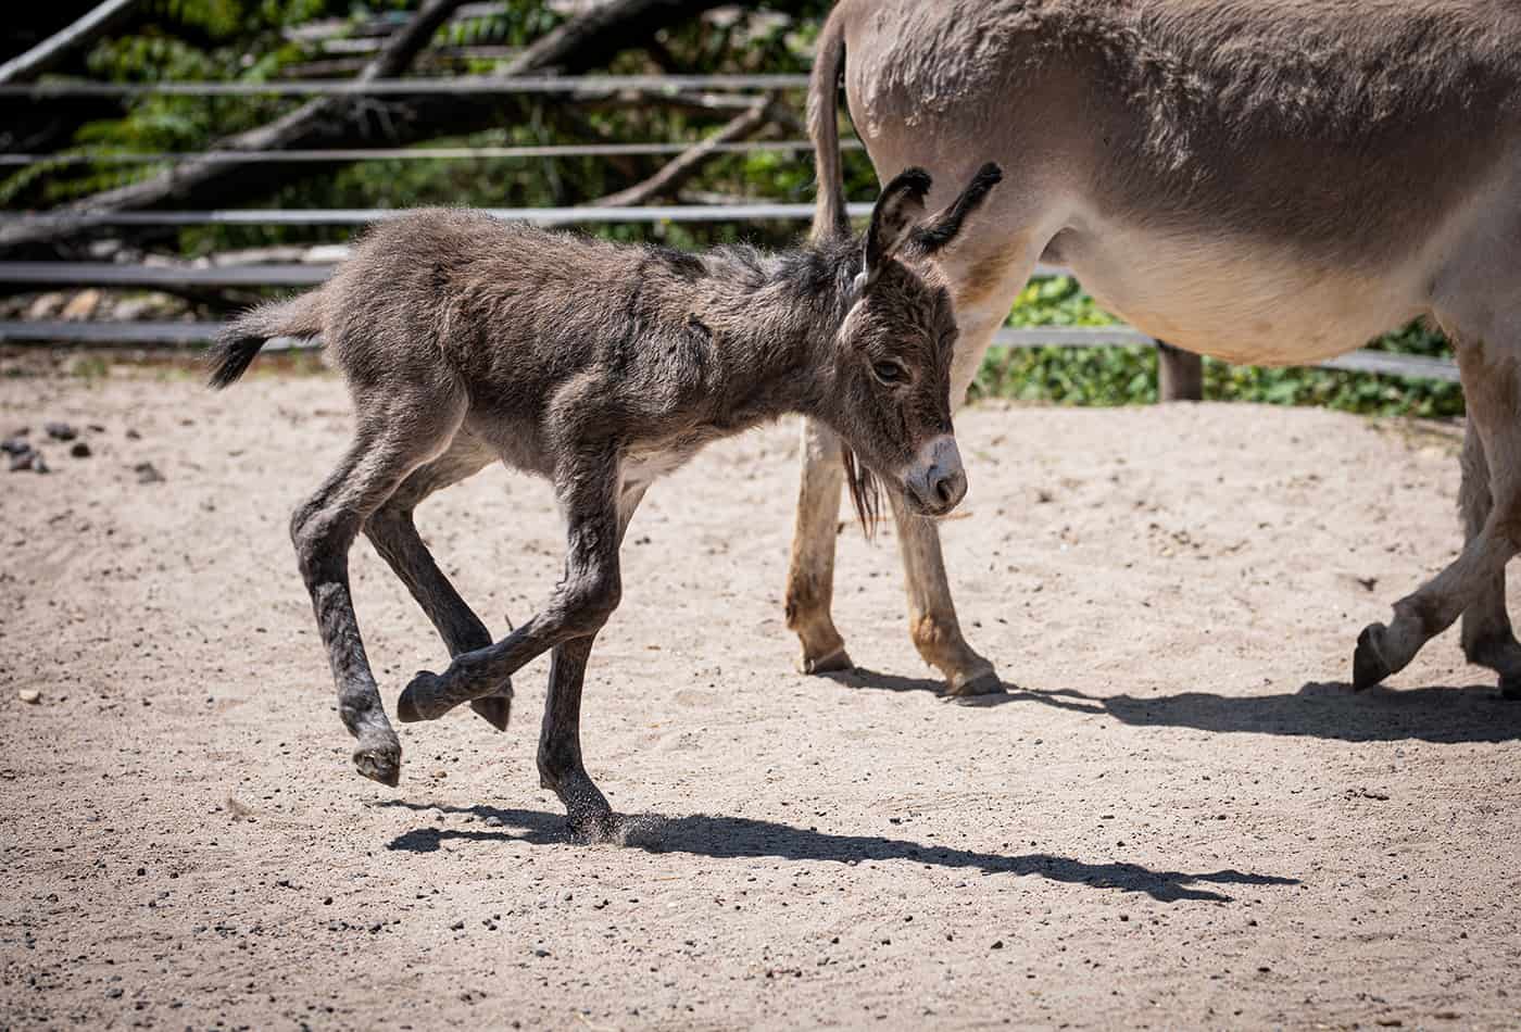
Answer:
[[[1153,337],[1243,365],[1303,365],[1360,348],[1428,309],[1418,260],[1384,274],[1132,228],[1062,236],[1062,260],[1109,312]]]

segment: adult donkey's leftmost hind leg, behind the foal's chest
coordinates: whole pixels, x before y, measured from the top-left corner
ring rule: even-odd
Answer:
[[[849,670],[850,655],[835,629],[835,537],[840,526],[840,489],[844,462],[840,435],[814,419],[803,419],[802,483],[792,561],[786,570],[786,626],[803,644],[803,673]]]

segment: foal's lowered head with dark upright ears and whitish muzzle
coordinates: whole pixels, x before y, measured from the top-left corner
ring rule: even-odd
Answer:
[[[920,515],[945,515],[966,495],[951,427],[955,310],[920,258],[951,243],[1001,178],[996,164],[983,166],[949,208],[926,219],[929,173],[910,169],[882,190],[872,213],[850,310],[835,337],[837,394],[829,401],[867,532],[879,511],[875,477]]]

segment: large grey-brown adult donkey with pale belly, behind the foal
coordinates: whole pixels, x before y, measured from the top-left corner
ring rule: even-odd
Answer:
[[[849,62],[846,61],[849,55]],[[837,91],[885,176],[1007,181],[940,255],[964,395],[1036,261],[1229,362],[1300,365],[1428,316],[1468,398],[1462,555],[1363,631],[1358,689],[1463,617],[1521,696],[1504,603],[1521,550],[1521,5],[1513,0],[843,0],[814,71],[817,226],[844,223]],[[805,429],[788,626],[849,666],[829,613],[838,447]],[[961,637],[935,526],[896,509],[910,629],[952,695],[998,687]]]

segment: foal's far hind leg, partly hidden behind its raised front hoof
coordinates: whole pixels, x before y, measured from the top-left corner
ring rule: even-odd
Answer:
[[[461,432],[444,454],[412,473],[365,523],[365,535],[427,614],[450,658],[484,649],[491,644],[491,634],[438,568],[417,533],[412,511],[427,495],[475,476],[493,459],[496,453],[490,447]],[[511,682],[497,695],[472,701],[470,708],[497,731],[506,731],[513,708]]]

